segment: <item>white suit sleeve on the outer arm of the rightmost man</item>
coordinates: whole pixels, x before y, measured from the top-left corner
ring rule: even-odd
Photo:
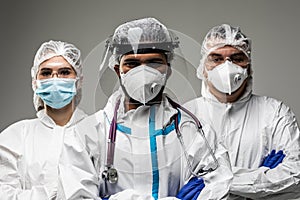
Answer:
[[[286,157],[273,169],[234,167],[233,194],[251,199],[300,197],[300,133],[297,120],[292,111],[281,103],[271,121],[265,130],[267,138],[272,138],[269,149],[283,150]]]

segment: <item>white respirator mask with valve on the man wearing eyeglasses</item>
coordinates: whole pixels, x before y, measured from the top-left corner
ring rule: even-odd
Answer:
[[[244,80],[248,77],[248,73],[247,68],[242,68],[226,60],[212,70],[207,70],[207,76],[207,80],[217,90],[231,95],[231,93],[241,87]]]

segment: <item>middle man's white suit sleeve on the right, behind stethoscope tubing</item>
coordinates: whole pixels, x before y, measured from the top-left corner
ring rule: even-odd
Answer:
[[[186,136],[186,144],[189,144],[188,140],[193,141],[190,143],[191,145],[187,145],[187,149],[189,158],[193,157],[192,163],[195,166],[194,172],[199,170],[201,167],[207,169],[209,167],[216,166],[215,161],[209,153],[209,148],[204,141],[205,139],[207,140],[207,144],[210,145],[211,150],[214,152],[219,165],[216,170],[201,176],[204,180],[205,187],[202,189],[197,199],[227,199],[230,184],[233,179],[228,152],[217,140],[214,130],[209,125],[203,123],[202,125],[205,138],[200,132],[196,131],[196,128],[192,128],[195,127],[192,123],[185,123],[182,128],[182,133]],[[187,130],[185,132],[185,129],[188,129],[189,131]],[[185,161],[183,162],[186,163]],[[189,173],[188,166],[186,166],[185,171],[186,173]],[[188,182],[188,180],[186,180],[186,182]]]

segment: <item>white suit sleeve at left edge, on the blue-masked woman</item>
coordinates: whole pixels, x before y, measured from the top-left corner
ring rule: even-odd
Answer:
[[[26,121],[17,122],[0,134],[0,197],[1,200],[48,199],[56,183],[37,183],[29,186],[25,181],[24,141]]]

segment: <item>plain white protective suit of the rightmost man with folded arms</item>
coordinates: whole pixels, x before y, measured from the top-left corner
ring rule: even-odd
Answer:
[[[230,190],[240,195],[232,199],[299,199],[300,133],[295,115],[281,101],[252,94],[251,77],[247,84],[239,100],[220,103],[202,81],[202,97],[184,106],[210,122],[228,148],[234,173]],[[272,149],[283,150],[286,157],[274,169],[260,167]]]

